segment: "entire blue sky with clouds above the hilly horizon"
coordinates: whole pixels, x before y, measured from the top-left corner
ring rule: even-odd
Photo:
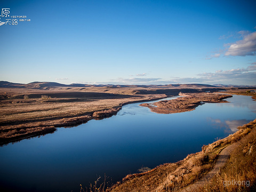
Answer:
[[[256,85],[255,7],[1,0],[0,81]]]

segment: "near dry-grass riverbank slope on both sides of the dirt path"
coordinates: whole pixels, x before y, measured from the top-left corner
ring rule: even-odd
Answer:
[[[182,161],[159,165],[143,173],[129,174],[107,191],[179,191],[183,189],[184,191],[190,191],[189,185],[200,180],[212,170],[221,151],[229,145],[234,145],[234,143],[237,143],[237,145],[233,151],[238,152],[232,153],[226,167],[220,168],[222,177],[215,175],[213,178],[208,178],[207,182],[205,181],[202,185],[197,186],[196,191],[205,191],[205,185],[207,191],[237,191],[237,189],[253,191],[256,183],[255,127],[256,119],[238,127],[239,130],[230,134],[227,138],[203,146],[202,151],[190,154]],[[234,170],[234,165],[238,165],[236,170]],[[225,186],[225,181],[231,181],[232,179],[240,179],[241,181],[247,179],[250,185]],[[193,191],[195,191],[194,188]]]

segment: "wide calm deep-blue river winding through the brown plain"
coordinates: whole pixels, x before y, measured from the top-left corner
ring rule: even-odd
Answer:
[[[0,191],[76,192],[105,174],[116,182],[142,166],[177,162],[256,118],[251,97],[226,100],[178,114],[132,103],[113,117],[0,147]]]

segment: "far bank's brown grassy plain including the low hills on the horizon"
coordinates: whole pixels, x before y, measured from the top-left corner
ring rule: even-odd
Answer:
[[[163,99],[178,95],[180,91],[198,93],[223,90],[197,84],[179,85],[178,88],[174,85],[69,87],[49,82],[9,84],[0,87],[0,145],[53,133],[58,127],[76,126],[91,119],[110,117],[123,105],[133,102]]]

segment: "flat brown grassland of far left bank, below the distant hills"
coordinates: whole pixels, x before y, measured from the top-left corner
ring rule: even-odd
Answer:
[[[26,94],[27,99],[22,98],[24,95],[19,95],[18,98],[10,97],[1,101],[0,145],[53,133],[57,127],[76,126],[91,119],[107,118],[115,115],[123,105],[129,103],[166,98],[165,94],[120,95],[77,92],[76,98],[67,98],[70,97],[69,92],[46,94]]]

